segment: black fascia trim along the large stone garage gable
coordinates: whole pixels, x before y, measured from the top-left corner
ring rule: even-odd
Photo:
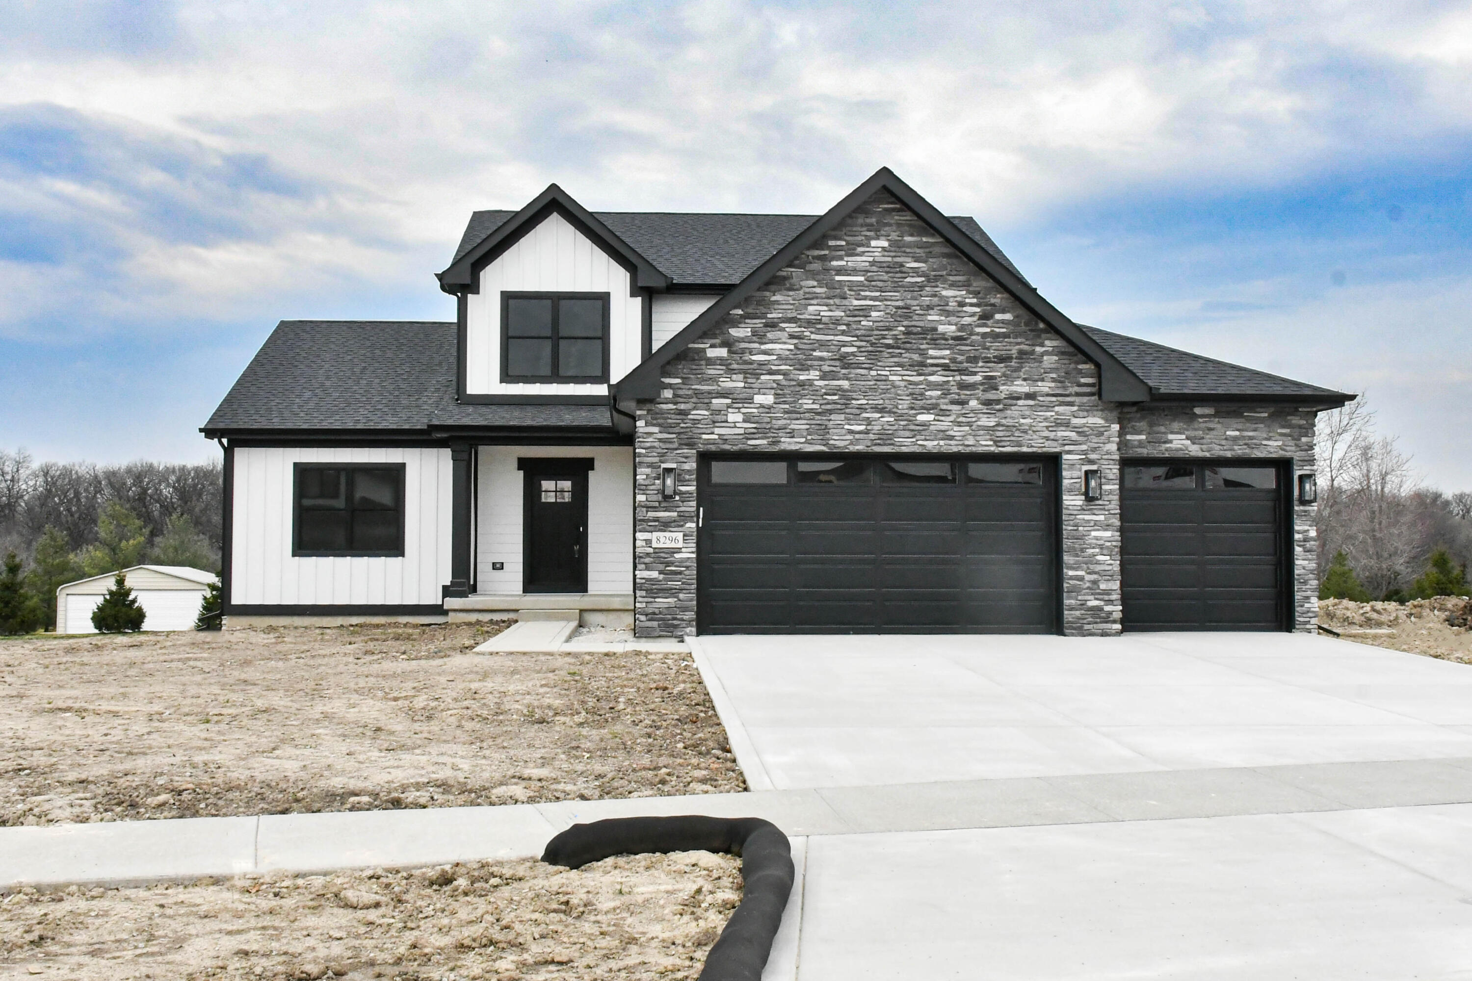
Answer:
[[[901,204],[908,207],[916,218],[936,231],[945,241],[966,256],[976,268],[991,277],[999,287],[1010,293],[1019,303],[1032,310],[1055,334],[1063,337],[1079,353],[1088,357],[1100,371],[1100,399],[1104,402],[1148,402],[1150,385],[1135,372],[1129,371],[1117,357],[1110,354],[1098,341],[1079,329],[1057,307],[1038,296],[1038,291],[1019,278],[1011,269],[998,262],[980,243],[955,226],[949,218],[942,215],[933,204],[920,197],[908,184],[901,181],[889,168],[880,168],[867,181],[849,191],[843,200],[830,207],[827,213],[808,225],[789,241],[777,254],[757,266],[751,275],[730,293],[723,296],[704,313],[695,318],[689,327],[665,341],[659,350],[640,363],[620,381],[614,390],[618,399],[655,399],[659,394],[659,372],[664,365],[690,346],[698,337],[710,329],[717,321],[735,310],[740,303],[771,279],[777,272],[792,263],[818,238],[832,231],[839,222],[848,218],[858,206],[867,201],[877,191],[889,191]]]

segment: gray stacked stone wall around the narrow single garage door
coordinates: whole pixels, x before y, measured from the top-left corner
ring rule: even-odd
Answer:
[[[1313,472],[1316,409],[1300,406],[1144,404],[1120,410],[1122,457],[1262,457]],[[1292,488],[1289,488],[1292,490]],[[1294,629],[1319,622],[1319,540],[1314,504],[1294,496]]]

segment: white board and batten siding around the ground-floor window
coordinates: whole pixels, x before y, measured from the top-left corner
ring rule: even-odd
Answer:
[[[238,447],[230,602],[440,604],[450,581],[449,449]],[[403,463],[403,556],[293,557],[293,463]]]

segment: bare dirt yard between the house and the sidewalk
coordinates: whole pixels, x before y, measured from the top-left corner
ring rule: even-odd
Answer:
[[[687,656],[502,627],[0,641],[0,824],[745,790]]]

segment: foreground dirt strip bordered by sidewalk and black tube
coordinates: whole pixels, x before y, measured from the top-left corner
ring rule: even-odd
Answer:
[[[695,978],[739,860],[686,852],[246,878],[0,902],[0,977]]]

